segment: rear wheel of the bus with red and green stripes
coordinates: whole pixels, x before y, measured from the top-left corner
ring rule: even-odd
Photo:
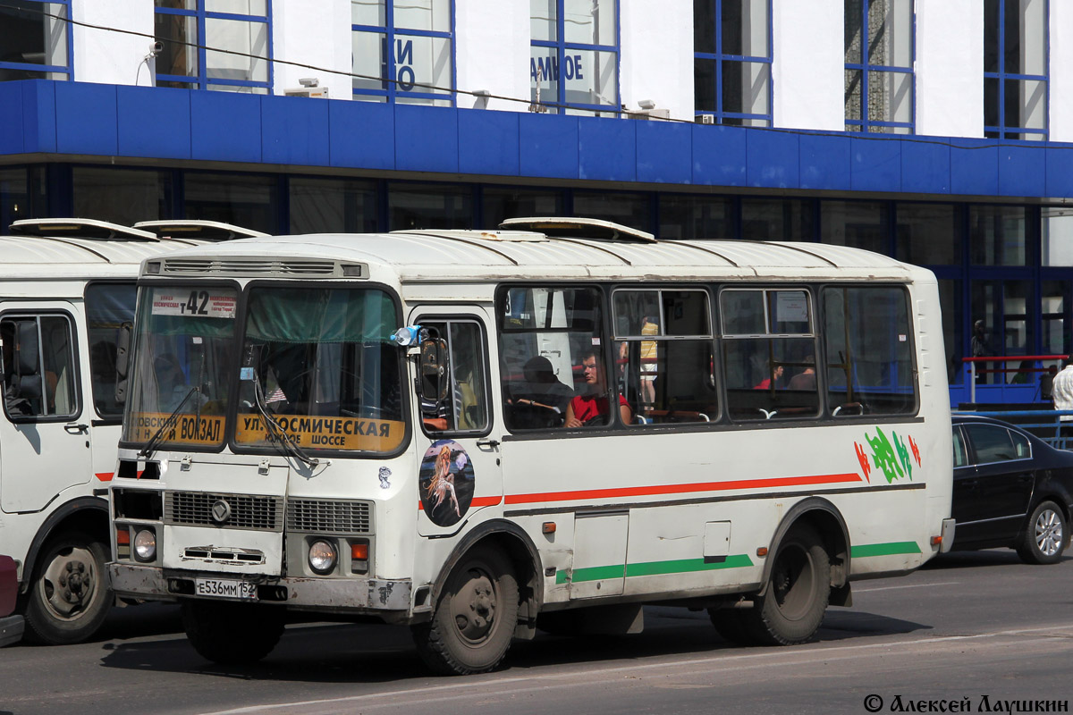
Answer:
[[[831,561],[815,530],[797,524],[783,537],[764,595],[743,611],[758,643],[793,645],[820,629],[831,596]]]

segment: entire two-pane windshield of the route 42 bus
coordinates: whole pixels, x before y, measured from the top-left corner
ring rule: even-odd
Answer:
[[[130,442],[161,426],[160,444],[214,448],[233,436],[253,451],[385,453],[405,440],[401,356],[388,340],[399,319],[383,291],[152,287],[139,311]]]

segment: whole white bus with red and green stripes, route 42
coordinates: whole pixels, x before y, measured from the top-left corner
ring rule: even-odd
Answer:
[[[409,625],[435,670],[644,604],[812,638],[949,548],[927,270],[599,221],[151,258],[111,483],[113,587],[259,659],[285,611]]]

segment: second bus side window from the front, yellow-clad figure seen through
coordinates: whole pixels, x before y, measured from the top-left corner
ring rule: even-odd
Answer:
[[[620,390],[636,423],[708,422],[719,415],[704,291],[616,291]]]

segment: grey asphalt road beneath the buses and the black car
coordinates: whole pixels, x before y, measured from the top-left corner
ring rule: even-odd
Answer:
[[[856,582],[853,591],[854,606],[829,609],[819,640],[802,646],[735,647],[703,613],[649,608],[643,634],[542,634],[515,642],[499,671],[470,677],[428,675],[409,631],[379,625],[294,624],[263,662],[219,667],[190,647],[174,607],[116,609],[93,642],[0,650],[0,714],[1071,706],[1073,557],[1033,567],[1005,550],[947,554],[908,577]]]

